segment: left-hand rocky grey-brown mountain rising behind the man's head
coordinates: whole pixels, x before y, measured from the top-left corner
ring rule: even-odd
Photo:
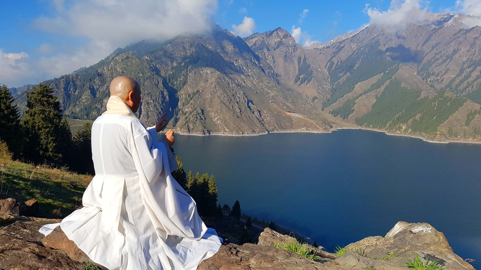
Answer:
[[[147,124],[167,112],[169,127],[203,134],[331,127],[310,100],[280,84],[272,66],[260,62],[240,37],[219,27],[203,35],[119,48],[97,64],[46,83],[66,115],[95,119],[105,108],[110,81],[120,75],[140,83],[138,115]],[[293,119],[287,111],[309,115],[312,122]]]

